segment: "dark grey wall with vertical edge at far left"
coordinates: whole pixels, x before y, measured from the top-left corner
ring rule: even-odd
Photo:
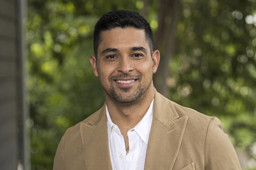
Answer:
[[[30,169],[25,165],[22,3],[0,1],[0,169],[18,164]]]

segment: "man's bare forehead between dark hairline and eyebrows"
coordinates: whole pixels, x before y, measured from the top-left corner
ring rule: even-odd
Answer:
[[[149,50],[149,45],[146,41],[145,31],[143,29],[128,28],[114,28],[100,33],[101,41],[98,52],[105,48],[131,48],[134,46],[143,46]]]

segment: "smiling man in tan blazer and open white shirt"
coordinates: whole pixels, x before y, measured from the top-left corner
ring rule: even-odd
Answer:
[[[90,62],[104,90],[103,107],[69,128],[53,169],[241,169],[218,118],[156,92],[159,64],[152,31],[136,12],[103,15]]]

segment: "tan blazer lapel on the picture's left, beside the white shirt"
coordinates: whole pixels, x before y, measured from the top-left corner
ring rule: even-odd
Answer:
[[[107,129],[106,104],[91,119],[89,124],[82,123],[80,125],[87,170],[112,169]]]

